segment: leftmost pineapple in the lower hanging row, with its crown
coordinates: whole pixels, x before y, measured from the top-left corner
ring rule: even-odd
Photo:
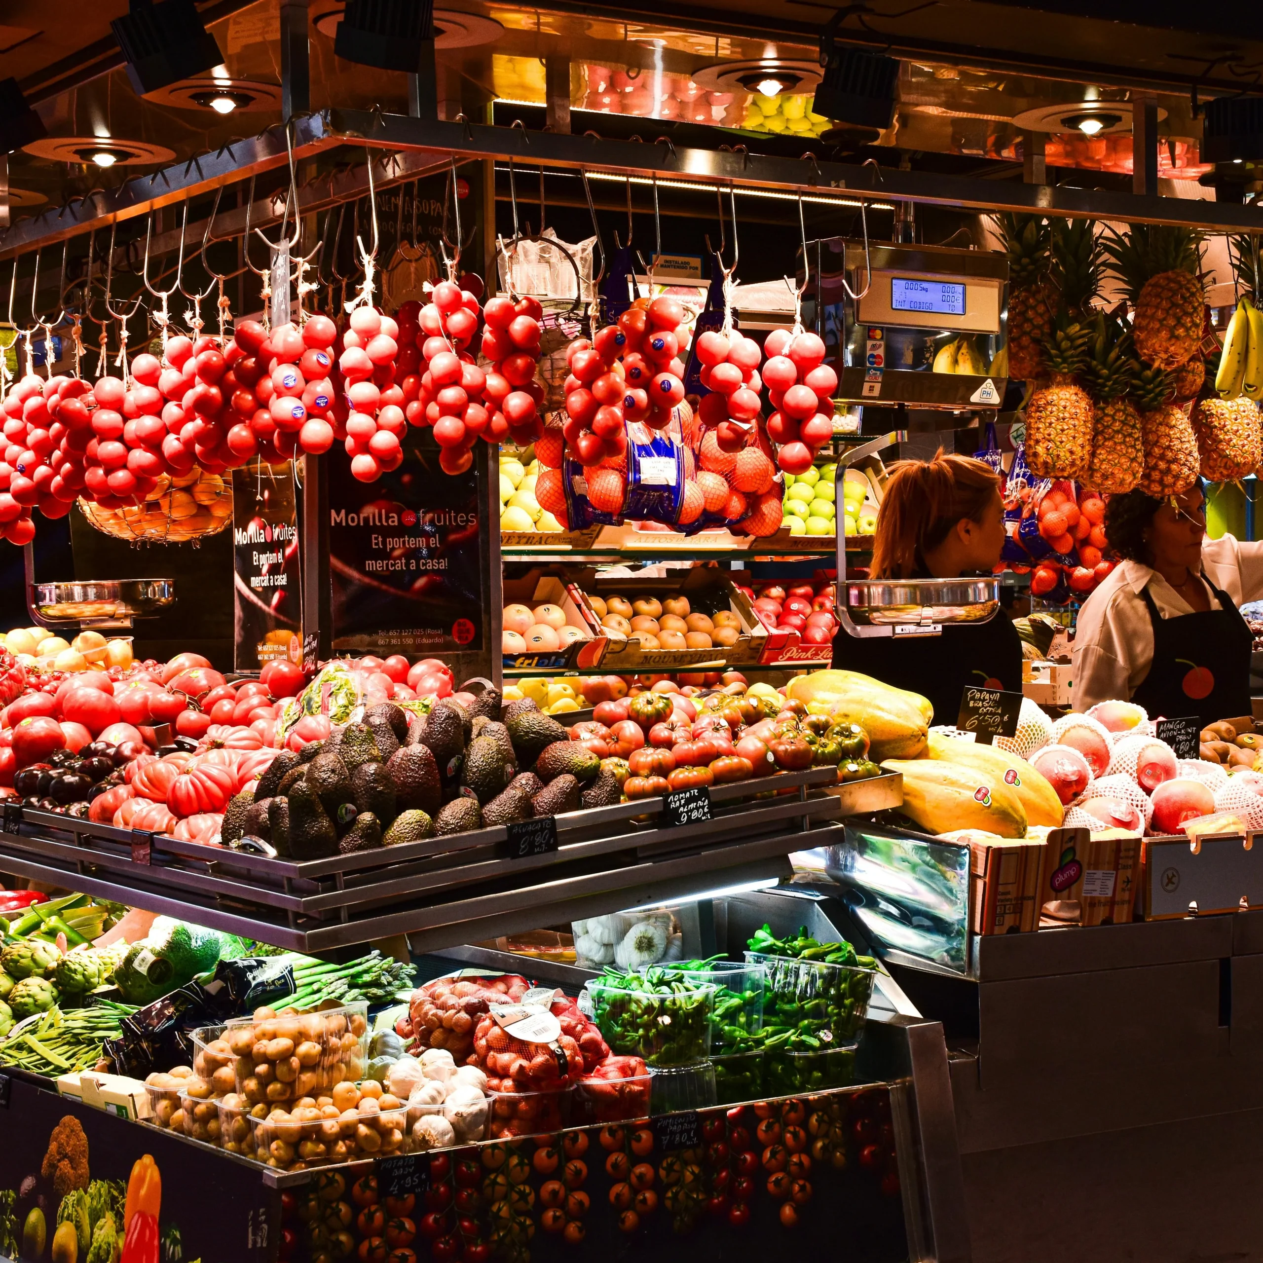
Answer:
[[[1075,378],[1087,366],[1091,327],[1057,317],[1045,342],[1051,380],[1026,407],[1026,457],[1039,477],[1087,479],[1092,455],[1092,400]]]

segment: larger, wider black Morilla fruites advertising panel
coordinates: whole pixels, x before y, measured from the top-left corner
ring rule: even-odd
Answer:
[[[409,431],[399,467],[359,482],[328,470],[333,652],[412,657],[489,653],[490,538],[479,442],[464,474],[445,474],[431,432]],[[499,652],[499,648],[496,649]]]

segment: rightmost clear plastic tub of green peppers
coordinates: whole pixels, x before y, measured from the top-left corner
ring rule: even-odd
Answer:
[[[877,969],[754,951],[745,954],[745,961],[767,970],[764,1027],[796,1027],[801,1033],[810,1033],[822,1047],[847,1047],[856,1042],[864,1028]],[[803,1022],[808,1023],[806,1028]]]

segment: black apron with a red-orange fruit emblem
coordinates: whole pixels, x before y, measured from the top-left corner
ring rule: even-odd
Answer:
[[[1205,725],[1250,714],[1254,637],[1231,599],[1209,578],[1206,586],[1223,609],[1170,619],[1158,614],[1148,587],[1140,592],[1153,624],[1153,663],[1132,701],[1151,719],[1197,715]]]

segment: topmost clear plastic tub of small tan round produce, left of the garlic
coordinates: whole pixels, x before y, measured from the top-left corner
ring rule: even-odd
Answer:
[[[251,1105],[284,1106],[326,1096],[344,1080],[357,1082],[368,1060],[368,1012],[357,1000],[316,1013],[235,1018],[224,1031],[235,1090]]]

